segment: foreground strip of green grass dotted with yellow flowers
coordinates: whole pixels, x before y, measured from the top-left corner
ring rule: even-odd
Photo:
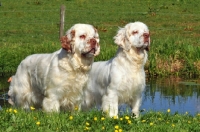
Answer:
[[[20,109],[5,108],[0,111],[1,131],[92,131],[92,132],[189,132],[200,131],[200,114],[191,116],[185,114],[149,111],[138,119],[129,114],[120,115],[119,118],[106,117],[97,110],[91,112],[61,112],[43,113],[31,110],[25,112]]]

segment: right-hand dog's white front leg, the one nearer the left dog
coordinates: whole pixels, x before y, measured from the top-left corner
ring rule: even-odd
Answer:
[[[110,117],[118,116],[118,96],[113,90],[107,90],[102,98],[102,109]]]

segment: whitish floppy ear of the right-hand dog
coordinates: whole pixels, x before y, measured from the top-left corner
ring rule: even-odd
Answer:
[[[117,35],[114,37],[114,42],[125,50],[129,50],[131,48],[131,44],[126,41],[126,30],[125,28],[120,28],[117,32]]]

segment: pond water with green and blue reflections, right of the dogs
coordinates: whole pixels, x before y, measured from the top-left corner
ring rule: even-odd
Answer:
[[[141,109],[195,115],[200,112],[200,83],[180,78],[153,79],[147,82]]]

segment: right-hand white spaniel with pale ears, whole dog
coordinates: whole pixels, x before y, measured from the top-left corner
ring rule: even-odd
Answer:
[[[142,22],[129,23],[119,29],[114,39],[118,45],[115,57],[92,65],[82,108],[100,105],[113,117],[118,115],[118,104],[128,103],[138,117],[141,94],[145,89],[149,29]]]

